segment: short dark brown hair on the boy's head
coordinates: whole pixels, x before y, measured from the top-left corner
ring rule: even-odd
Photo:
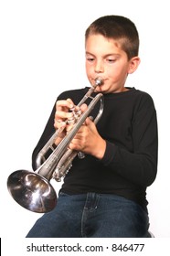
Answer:
[[[118,40],[128,59],[138,56],[139,35],[137,28],[129,18],[124,16],[101,16],[87,28],[85,39],[87,40],[90,35],[96,34]]]

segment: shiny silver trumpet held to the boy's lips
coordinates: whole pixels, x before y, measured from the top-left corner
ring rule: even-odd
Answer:
[[[79,131],[80,126],[85,122],[90,112],[94,109],[97,102],[100,101],[100,109],[94,120],[98,123],[103,112],[103,95],[98,93],[92,97],[92,92],[97,86],[103,83],[101,78],[96,78],[95,84],[90,87],[89,91],[79,102],[78,106],[90,99],[90,104],[85,112],[74,112],[74,120],[67,120],[68,123],[73,123],[71,130],[61,142],[54,147],[54,140],[62,131],[58,130],[50,137],[48,143],[37,154],[35,172],[27,170],[17,170],[7,178],[7,188],[10,195],[23,208],[37,213],[45,213],[56,207],[58,197],[56,190],[50,184],[51,178],[60,181],[62,177],[66,176],[72,165],[73,159],[79,155],[80,158],[85,157],[81,152],[69,149],[69,144]],[[45,159],[45,154],[51,149],[52,153]],[[43,162],[43,164],[42,164]]]

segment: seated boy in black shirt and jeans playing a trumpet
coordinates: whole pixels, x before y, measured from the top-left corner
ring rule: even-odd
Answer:
[[[133,22],[123,16],[101,16],[86,30],[86,72],[90,84],[102,80],[104,110],[97,125],[90,118],[69,148],[85,154],[74,159],[59,191],[57,207],[37,220],[27,237],[149,237],[146,187],[157,171],[157,121],[150,95],[125,87],[127,76],[140,64],[139,37]],[[83,98],[88,88],[58,96],[48,123],[33,152],[49,137]],[[86,105],[82,105],[82,112]],[[58,139],[55,142],[58,144]]]

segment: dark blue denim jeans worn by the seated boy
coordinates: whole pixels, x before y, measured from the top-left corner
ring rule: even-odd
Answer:
[[[124,197],[60,193],[57,207],[37,219],[27,238],[145,238],[148,228],[147,213]]]

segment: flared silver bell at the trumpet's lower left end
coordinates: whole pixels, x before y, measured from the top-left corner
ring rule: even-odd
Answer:
[[[55,189],[37,173],[18,170],[8,176],[7,188],[16,202],[28,210],[44,213],[57,205]]]

